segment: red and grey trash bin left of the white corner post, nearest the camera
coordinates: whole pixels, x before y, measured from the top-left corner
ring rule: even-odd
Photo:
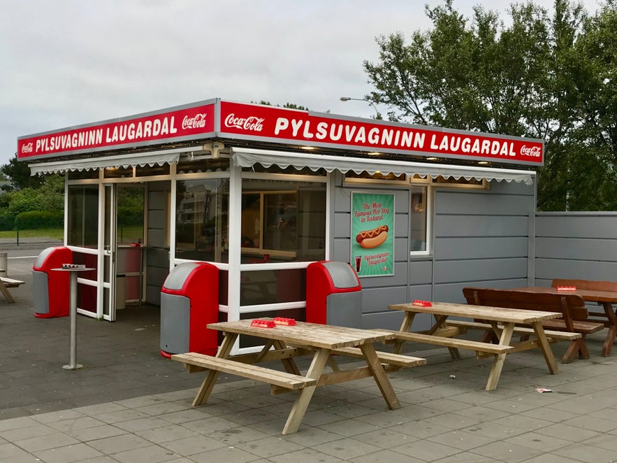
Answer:
[[[205,262],[175,266],[161,289],[161,355],[216,355],[218,333],[206,325],[218,321],[219,269]]]

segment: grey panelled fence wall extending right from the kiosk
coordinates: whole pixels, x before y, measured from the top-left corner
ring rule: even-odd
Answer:
[[[535,285],[617,280],[617,212],[536,213]]]

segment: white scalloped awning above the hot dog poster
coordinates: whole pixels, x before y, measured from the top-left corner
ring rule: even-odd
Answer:
[[[232,148],[232,159],[236,166],[251,167],[253,164],[261,164],[264,167],[277,165],[282,168],[295,167],[303,169],[308,167],[312,171],[326,169],[328,172],[341,171],[342,173],[354,171],[361,173],[367,171],[373,174],[377,171],[381,173],[393,173],[408,176],[419,175],[422,178],[472,178],[477,180],[505,180],[507,182],[523,182],[525,185],[532,185],[535,177],[534,171],[519,171],[515,169],[494,169],[481,166],[461,166],[456,164],[433,164],[429,162],[406,162],[387,159],[366,159],[360,157],[343,157],[319,155],[311,152],[310,154],[298,152],[285,152],[274,150],[257,150],[253,148]]]

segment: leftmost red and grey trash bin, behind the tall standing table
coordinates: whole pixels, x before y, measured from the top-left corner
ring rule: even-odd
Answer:
[[[32,266],[35,317],[68,315],[69,274],[52,271],[59,269],[62,264],[73,264],[73,252],[64,246],[46,248],[36,257]]]

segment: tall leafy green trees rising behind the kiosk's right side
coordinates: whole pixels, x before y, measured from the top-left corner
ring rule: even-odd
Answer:
[[[615,208],[615,12],[615,0],[594,17],[569,0],[553,17],[517,3],[505,25],[481,6],[467,20],[444,0],[409,44],[400,32],[377,38],[379,62],[364,62],[370,99],[391,120],[543,138],[539,209]]]

